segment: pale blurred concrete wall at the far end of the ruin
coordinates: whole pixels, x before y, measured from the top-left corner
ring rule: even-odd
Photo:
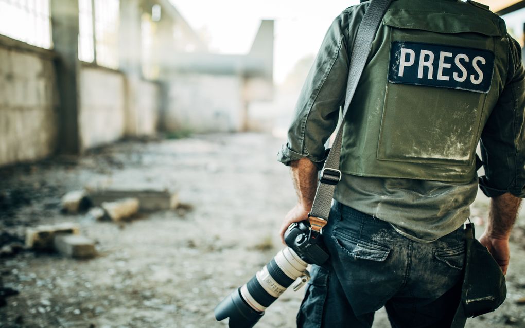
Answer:
[[[163,128],[194,132],[243,130],[243,83],[243,78],[233,75],[176,75],[166,81]]]

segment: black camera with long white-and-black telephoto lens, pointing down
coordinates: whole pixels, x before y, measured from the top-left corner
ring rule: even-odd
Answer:
[[[310,244],[308,232],[309,227],[303,222],[291,224],[285,233],[289,247],[280,250],[246,284],[220,302],[215,308],[215,319],[229,318],[230,328],[253,327],[266,308],[298,278],[293,290],[299,290],[310,279],[308,263],[322,264],[328,259],[319,242]]]

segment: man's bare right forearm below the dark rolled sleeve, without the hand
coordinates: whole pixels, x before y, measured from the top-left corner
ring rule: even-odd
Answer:
[[[493,238],[508,239],[520,204],[521,198],[509,193],[491,198],[486,234]]]

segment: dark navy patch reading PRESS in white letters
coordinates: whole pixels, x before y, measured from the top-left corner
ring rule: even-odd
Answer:
[[[388,81],[487,93],[494,72],[488,50],[394,41]]]

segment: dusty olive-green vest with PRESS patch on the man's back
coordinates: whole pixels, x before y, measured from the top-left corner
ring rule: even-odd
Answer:
[[[472,181],[508,43],[503,20],[480,4],[393,1],[344,118],[341,171]]]

